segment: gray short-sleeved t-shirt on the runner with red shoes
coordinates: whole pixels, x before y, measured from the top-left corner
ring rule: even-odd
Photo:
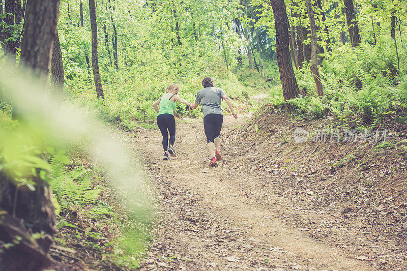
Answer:
[[[223,115],[222,110],[222,96],[225,92],[221,88],[208,86],[196,94],[195,103],[202,105],[203,117],[208,114],[220,114]]]

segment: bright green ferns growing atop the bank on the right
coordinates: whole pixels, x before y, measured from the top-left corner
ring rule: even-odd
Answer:
[[[324,97],[316,97],[315,82],[309,69],[296,71],[298,85],[308,91],[288,101],[294,110],[310,117],[331,111],[339,119],[356,120],[380,126],[383,117],[394,105],[407,102],[407,56],[399,49],[400,70],[393,40],[383,37],[375,47],[362,44],[359,48],[341,46],[324,59],[319,73]],[[282,104],[281,90],[272,92],[269,100]]]

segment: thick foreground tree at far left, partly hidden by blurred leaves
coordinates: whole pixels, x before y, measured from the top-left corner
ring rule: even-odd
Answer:
[[[30,71],[43,84],[48,81],[59,8],[59,0],[30,0],[27,3],[19,69]],[[21,109],[14,106],[14,116],[16,112]],[[8,243],[16,239],[15,235],[21,238],[13,249],[0,254],[0,266],[6,266],[7,260],[9,270],[41,270],[51,262],[47,251],[52,244],[51,235],[56,231],[52,195],[45,180],[35,176],[32,180],[34,191],[19,189],[14,179],[11,181],[0,173],[0,209],[8,213],[0,215],[0,239]],[[32,232],[41,233],[39,239],[30,239],[32,235],[24,226],[28,224],[31,224]]]

